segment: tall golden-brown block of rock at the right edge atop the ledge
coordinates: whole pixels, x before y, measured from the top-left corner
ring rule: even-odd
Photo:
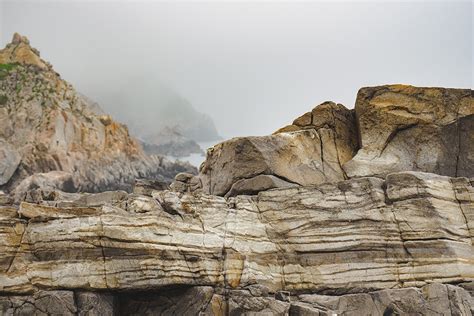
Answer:
[[[355,107],[361,150],[348,176],[414,170],[474,176],[474,99],[469,89],[362,88]]]

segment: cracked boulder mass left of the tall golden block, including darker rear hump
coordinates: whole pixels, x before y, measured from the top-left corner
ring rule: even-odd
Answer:
[[[223,196],[344,180],[342,165],[355,154],[357,141],[352,111],[325,102],[273,135],[239,137],[212,147],[195,182],[203,192]],[[272,178],[263,184],[263,178],[254,179],[261,175]]]

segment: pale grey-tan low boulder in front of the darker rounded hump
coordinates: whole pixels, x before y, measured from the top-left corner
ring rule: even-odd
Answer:
[[[232,185],[257,175],[273,175],[286,182],[310,185],[343,180],[333,142],[332,155],[324,155],[331,132],[315,130],[270,136],[241,137],[214,146],[200,170],[203,191],[225,195]]]

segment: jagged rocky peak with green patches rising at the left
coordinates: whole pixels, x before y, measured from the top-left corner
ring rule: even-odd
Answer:
[[[0,68],[0,188],[17,196],[40,185],[130,190],[135,178],[194,172],[146,155],[126,126],[78,94],[25,37],[15,34],[0,51]]]

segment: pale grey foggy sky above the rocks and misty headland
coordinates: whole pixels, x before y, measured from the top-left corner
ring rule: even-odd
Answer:
[[[111,113],[136,80],[161,82],[224,137],[264,135],[362,86],[472,88],[472,2],[0,0],[0,44],[26,35]],[[130,83],[130,84],[129,84]]]

